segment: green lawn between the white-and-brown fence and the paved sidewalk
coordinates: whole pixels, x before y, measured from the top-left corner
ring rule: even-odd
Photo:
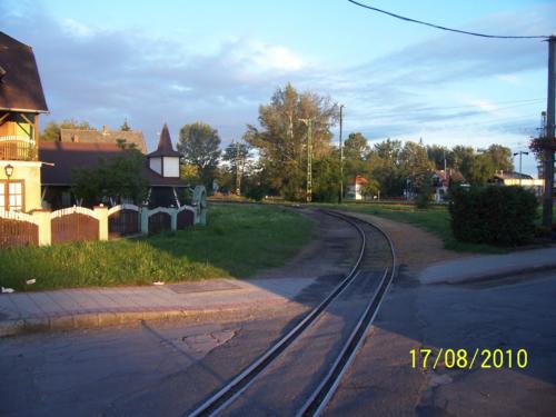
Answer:
[[[247,277],[284,265],[310,240],[312,229],[310,219],[279,207],[211,206],[206,227],[0,250],[0,284],[39,290]],[[28,286],[28,279],[37,284]]]

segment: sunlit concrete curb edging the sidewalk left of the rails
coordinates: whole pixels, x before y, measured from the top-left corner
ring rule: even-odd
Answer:
[[[270,310],[286,302],[270,304],[264,307],[242,305],[235,307],[190,309],[190,310],[145,310],[145,311],[102,311],[86,312],[66,316],[52,316],[46,318],[27,318],[0,321],[0,338],[32,334],[41,331],[60,331],[76,329],[102,328],[120,325],[138,324],[141,320],[172,320],[195,316],[210,316],[217,314],[249,312],[257,310]]]

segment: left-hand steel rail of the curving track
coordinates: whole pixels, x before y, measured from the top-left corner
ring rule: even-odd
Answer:
[[[324,210],[322,210],[324,211]],[[357,277],[358,268],[361,264],[366,247],[367,238],[363,228],[354,221],[353,218],[341,216],[340,214],[332,211],[324,211],[329,216],[334,216],[342,219],[349,225],[354,226],[359,236],[361,237],[361,248],[359,250],[359,256],[354,267],[349,274],[344,278],[344,280],[338,284],[330,294],[317,306],[315,307],[305,318],[296,325],[288,334],[280,338],[270,349],[268,349],[262,356],[256,359],[251,365],[245,368],[239,375],[237,375],[231,381],[226,384],[216,394],[206,399],[200,406],[193,409],[191,413],[185,414],[188,417],[198,416],[212,416],[216,415],[220,409],[225,408],[235,398],[237,398],[254,380],[255,378],[270,365],[280,354],[291,345],[302,332],[314,322],[325,308],[335,300]]]

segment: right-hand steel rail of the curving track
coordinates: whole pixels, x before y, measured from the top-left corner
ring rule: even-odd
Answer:
[[[339,217],[354,219],[354,217],[350,217],[348,215],[339,215]],[[309,397],[309,399],[305,403],[304,407],[301,407],[301,409],[296,414],[297,417],[316,417],[319,416],[326,408],[334,394],[336,393],[344,375],[351,366],[355,357],[357,356],[357,353],[363,346],[363,341],[365,340],[366,335],[368,334],[370,326],[373,325],[380,305],[383,304],[385,296],[388,292],[391,281],[394,280],[394,277],[396,275],[396,251],[390,237],[378,226],[359,218],[356,219],[377,229],[386,238],[391,254],[390,274],[388,276],[388,269],[385,270],[378,289],[375,291],[373,299],[368,304],[365,311],[361,314],[357,326],[354,328],[340,354],[337,356],[332,367],[330,368],[325,379],[319,384],[317,389]]]

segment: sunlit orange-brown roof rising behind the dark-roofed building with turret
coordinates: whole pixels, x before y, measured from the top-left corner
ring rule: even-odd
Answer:
[[[145,138],[140,130],[110,130],[106,125],[102,126],[102,130],[60,129],[61,142],[118,143],[120,140],[147,153]]]

